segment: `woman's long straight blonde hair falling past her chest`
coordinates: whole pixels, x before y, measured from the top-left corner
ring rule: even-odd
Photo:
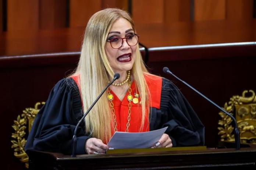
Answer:
[[[131,16],[120,9],[107,8],[96,12],[89,20],[82,44],[81,56],[77,70],[74,75],[79,75],[79,84],[81,88],[81,97],[83,110],[86,111],[107,83],[112,80],[114,71],[107,59],[105,45],[111,26],[117,19],[125,18],[135,30],[134,22]],[[144,126],[146,111],[149,111],[149,90],[143,74],[148,71],[143,63],[139,45],[136,47],[135,62],[131,74],[136,82],[136,88],[141,96],[142,122],[141,129]],[[111,127],[113,126],[113,117],[107,100],[107,94],[104,93],[100,100],[90,111],[85,119],[85,130],[92,137],[103,141],[109,141],[111,138]]]

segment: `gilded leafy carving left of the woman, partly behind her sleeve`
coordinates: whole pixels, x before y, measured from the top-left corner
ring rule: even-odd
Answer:
[[[24,149],[26,144],[25,134],[30,132],[34,119],[38,114],[40,107],[42,107],[44,104],[45,102],[38,102],[35,104],[35,108],[25,108],[23,113],[18,115],[17,120],[14,121],[12,126],[15,132],[11,135],[11,137],[14,139],[11,140],[11,143],[13,144],[11,148],[14,149],[14,156],[22,163],[25,163],[26,168],[28,168],[28,155]]]

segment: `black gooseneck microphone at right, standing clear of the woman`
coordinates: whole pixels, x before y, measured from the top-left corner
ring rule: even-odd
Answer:
[[[189,85],[188,83],[186,83],[185,81],[181,80],[180,78],[178,78],[176,75],[174,75],[169,69],[168,67],[164,67],[163,68],[163,72],[167,73],[167,74],[171,74],[173,75],[175,78],[177,78],[179,81],[183,82],[185,85],[187,85],[188,87],[190,87],[191,89],[193,89],[196,93],[198,93],[199,95],[203,96],[206,100],[208,100],[211,104],[213,104],[214,106],[216,106],[217,108],[219,108],[221,111],[223,111],[225,114],[227,114],[229,117],[231,117],[231,119],[234,122],[235,125],[235,145],[236,145],[236,150],[240,149],[240,134],[239,134],[239,130],[238,130],[238,126],[237,126],[237,121],[235,120],[235,118],[227,111],[225,111],[223,108],[221,108],[220,106],[218,106],[216,103],[214,103],[213,101],[211,101],[208,97],[206,97],[205,95],[203,95],[202,93],[200,93],[198,90],[196,90],[195,88],[193,88],[191,85]]]

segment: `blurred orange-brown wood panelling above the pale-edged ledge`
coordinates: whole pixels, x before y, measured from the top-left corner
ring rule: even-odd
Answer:
[[[79,51],[107,7],[129,11],[148,47],[255,40],[255,0],[0,0],[0,56]]]

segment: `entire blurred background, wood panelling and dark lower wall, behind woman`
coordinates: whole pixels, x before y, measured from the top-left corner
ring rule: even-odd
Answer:
[[[168,66],[221,107],[256,92],[256,0],[0,0],[0,108],[6,168],[25,169],[11,148],[12,125],[75,69],[84,29],[103,8],[128,11],[145,64],[174,82],[216,147],[218,109],[162,73]],[[27,135],[28,132],[26,132]]]

